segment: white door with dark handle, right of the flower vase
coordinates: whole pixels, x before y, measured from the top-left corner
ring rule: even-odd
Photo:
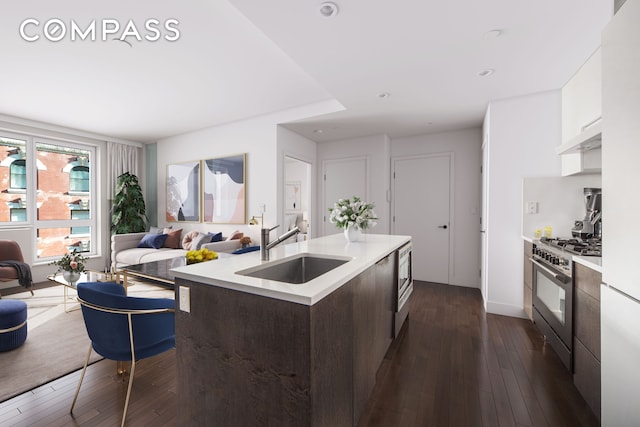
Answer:
[[[413,277],[449,283],[451,155],[393,160],[393,233],[412,236]]]

